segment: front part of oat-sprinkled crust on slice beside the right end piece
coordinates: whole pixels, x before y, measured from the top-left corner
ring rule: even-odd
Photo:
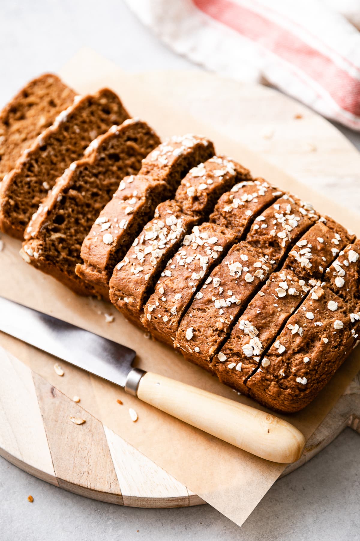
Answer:
[[[309,290],[288,269],[270,275],[214,357],[211,368],[220,381],[248,394],[246,379]]]

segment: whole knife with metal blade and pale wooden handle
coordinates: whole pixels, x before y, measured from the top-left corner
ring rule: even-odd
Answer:
[[[147,404],[258,457],[283,464],[301,457],[305,438],[287,421],[133,368],[133,349],[1,296],[0,331],[124,387]]]

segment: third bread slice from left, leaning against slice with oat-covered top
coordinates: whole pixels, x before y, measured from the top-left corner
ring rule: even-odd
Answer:
[[[21,251],[24,260],[76,293],[96,294],[74,272],[81,261],[81,244],[121,179],[136,174],[141,160],[158,144],[154,131],[134,119],[94,140],[84,158],[73,162],[57,180],[33,216]],[[108,226],[108,222],[101,224],[105,243],[111,237]]]

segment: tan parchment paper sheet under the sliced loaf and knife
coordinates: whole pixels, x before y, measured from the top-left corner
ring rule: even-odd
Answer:
[[[156,78],[152,75],[147,79],[146,74],[143,85],[138,84],[139,77],[136,79],[137,84],[134,84],[131,75],[124,74],[112,63],[89,50],[81,50],[60,75],[79,93],[84,94],[104,86],[112,88],[130,113],[144,118],[161,137],[182,133],[207,135],[213,139],[218,152],[239,160],[255,175],[262,175],[269,182],[311,201],[318,211],[330,214],[360,235],[358,215],[326,200],[321,194],[311,192],[247,148],[216,133],[211,126],[211,119],[209,125],[204,126],[189,116],[187,111],[170,107],[166,101],[166,94],[172,91],[170,76],[167,88],[157,89]],[[237,395],[210,374],[186,362],[171,348],[147,339],[140,329],[127,322],[111,305],[81,298],[49,276],[26,265],[18,255],[20,243],[5,235],[3,240],[5,249],[0,253],[0,295],[136,349],[137,365],[145,370],[260,408],[254,401]],[[105,312],[115,316],[112,324],[105,323]],[[141,403],[125,394],[121,388],[94,378],[65,362],[62,363],[65,375],[59,378],[53,370],[53,358],[15,339],[0,334],[0,345],[68,397],[79,395],[80,405],[86,411],[238,525],[246,520],[284,470],[284,465],[254,457],[208,436]],[[302,412],[288,415],[286,419],[309,438],[359,369],[360,348],[357,348],[317,399]],[[118,398],[123,400],[124,408],[118,406]],[[138,412],[137,423],[132,423],[128,407]]]

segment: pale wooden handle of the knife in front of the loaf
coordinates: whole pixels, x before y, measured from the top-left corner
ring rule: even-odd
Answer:
[[[140,379],[137,396],[176,419],[266,460],[295,462],[305,445],[303,434],[275,415],[152,372]]]

